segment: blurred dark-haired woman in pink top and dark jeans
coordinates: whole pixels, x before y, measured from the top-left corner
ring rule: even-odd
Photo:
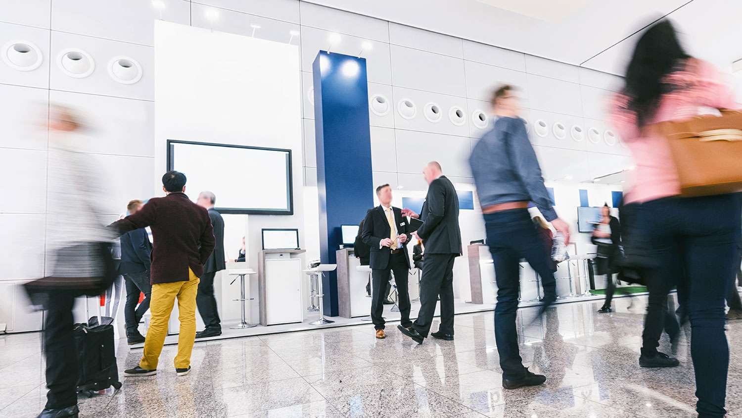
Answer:
[[[649,301],[639,362],[649,368],[678,365],[657,351],[667,295],[677,285],[692,326],[698,416],[723,417],[729,367],[724,296],[738,260],[740,203],[735,195],[680,197],[666,140],[649,128],[699,114],[702,107],[737,105],[715,68],[685,53],[669,21],[649,27],[637,42],[611,115],[636,164],[624,209],[631,215],[630,233],[652,261],[642,271]]]

